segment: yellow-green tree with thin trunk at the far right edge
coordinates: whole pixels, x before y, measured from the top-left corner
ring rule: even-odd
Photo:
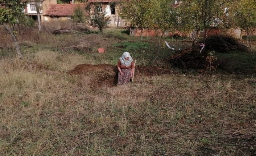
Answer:
[[[256,0],[238,0],[231,9],[235,24],[245,31],[249,37],[251,46],[251,35],[256,31]]]

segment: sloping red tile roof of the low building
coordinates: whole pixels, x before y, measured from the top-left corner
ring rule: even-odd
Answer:
[[[72,16],[74,10],[77,7],[84,8],[86,7],[86,3],[79,4],[50,4],[48,9],[44,12],[44,15],[48,16]],[[84,14],[89,16],[89,14],[84,10]]]

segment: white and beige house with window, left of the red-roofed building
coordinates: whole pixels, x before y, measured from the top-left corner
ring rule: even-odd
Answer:
[[[57,0],[41,0],[39,4],[41,6],[40,18],[42,20],[42,14],[48,9],[50,4],[57,4]],[[36,2],[29,1],[25,7],[25,14],[37,20]]]

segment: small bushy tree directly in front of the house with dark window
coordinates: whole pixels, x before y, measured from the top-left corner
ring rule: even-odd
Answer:
[[[106,11],[102,10],[103,8],[101,3],[95,3],[91,7],[93,8],[93,14],[90,19],[90,25],[93,28],[98,28],[103,34],[103,29],[107,28],[107,25],[110,22],[110,17],[105,17]]]

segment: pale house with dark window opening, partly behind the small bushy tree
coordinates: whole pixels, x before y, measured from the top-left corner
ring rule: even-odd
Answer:
[[[105,16],[110,18],[109,26],[127,26],[127,21],[119,16],[119,11],[122,7],[120,0],[88,0],[87,2],[90,3],[91,6],[91,15],[95,9],[99,12],[106,12]]]

